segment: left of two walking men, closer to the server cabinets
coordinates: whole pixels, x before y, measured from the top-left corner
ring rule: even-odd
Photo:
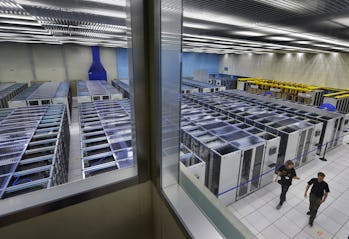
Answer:
[[[281,177],[280,180],[278,180],[279,177]],[[279,168],[275,178],[275,182],[278,182],[281,185],[280,202],[276,206],[276,209],[280,209],[282,204],[286,201],[286,193],[292,185],[292,179],[299,179],[299,177],[297,177],[292,160],[287,160],[285,165]]]

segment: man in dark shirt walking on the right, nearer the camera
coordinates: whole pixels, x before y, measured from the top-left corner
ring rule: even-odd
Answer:
[[[322,172],[319,172],[317,174],[317,178],[312,178],[307,185],[307,188],[305,189],[304,197],[307,198],[308,196],[308,190],[310,186],[312,185],[311,191],[310,191],[310,206],[309,211],[307,212],[307,215],[310,215],[309,217],[309,225],[312,227],[314,219],[317,214],[317,210],[319,209],[320,205],[326,201],[327,195],[330,192],[330,189],[328,188],[328,184],[324,181],[325,174]]]

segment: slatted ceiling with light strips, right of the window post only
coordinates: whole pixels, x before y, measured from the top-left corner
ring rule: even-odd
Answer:
[[[184,50],[349,52],[349,0],[184,0]]]

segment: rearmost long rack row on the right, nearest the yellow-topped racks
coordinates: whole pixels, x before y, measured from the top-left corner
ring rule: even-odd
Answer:
[[[281,112],[299,115],[309,120],[323,123],[320,133],[318,154],[323,154],[325,150],[329,151],[343,142],[344,130],[349,126],[349,114],[340,114],[321,110],[316,107],[297,104],[280,99],[257,96],[241,91],[226,91],[223,95],[229,95],[241,101],[252,102],[256,105],[266,105],[267,107]],[[319,134],[319,129],[316,134]],[[326,147],[327,144],[327,147]]]

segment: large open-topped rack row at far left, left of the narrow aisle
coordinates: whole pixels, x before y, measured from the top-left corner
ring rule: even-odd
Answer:
[[[66,107],[0,110],[0,198],[67,182],[69,124]]]

